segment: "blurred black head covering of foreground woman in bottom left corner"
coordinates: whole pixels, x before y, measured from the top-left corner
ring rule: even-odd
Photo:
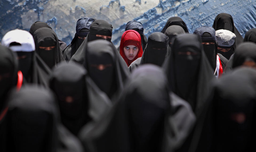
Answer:
[[[82,151],[63,127],[53,93],[26,85],[8,99],[6,151]]]

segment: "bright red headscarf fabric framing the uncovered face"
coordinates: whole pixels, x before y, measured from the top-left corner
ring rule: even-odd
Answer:
[[[128,45],[134,45],[134,46],[138,47],[139,51],[133,60],[128,60],[127,57],[125,56],[125,52],[123,51],[123,47],[128,46]],[[139,33],[134,30],[125,31],[122,35],[121,42],[120,42],[120,55],[125,60],[127,66],[129,67],[129,65],[134,60],[138,59],[138,57],[141,57],[142,54],[143,54],[143,50],[141,47],[141,36],[139,35]]]

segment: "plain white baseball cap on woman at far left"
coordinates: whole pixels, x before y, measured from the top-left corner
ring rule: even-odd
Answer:
[[[19,43],[20,45],[10,45],[13,42]],[[28,31],[25,30],[16,29],[7,32],[3,36],[1,44],[9,47],[14,52],[31,52],[35,50],[34,38]]]

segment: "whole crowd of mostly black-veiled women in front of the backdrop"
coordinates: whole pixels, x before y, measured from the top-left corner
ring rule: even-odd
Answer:
[[[189,34],[171,17],[147,38],[81,18],[66,45],[45,22],[0,45],[0,151],[250,151],[256,28],[231,15]]]

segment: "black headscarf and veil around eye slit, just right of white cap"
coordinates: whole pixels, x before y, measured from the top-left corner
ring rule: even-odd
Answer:
[[[50,28],[42,27],[34,32],[35,51],[48,65],[49,68],[56,67],[56,65],[63,61],[64,58],[59,47],[59,41],[56,33]],[[40,49],[42,47],[55,46],[52,50]]]

